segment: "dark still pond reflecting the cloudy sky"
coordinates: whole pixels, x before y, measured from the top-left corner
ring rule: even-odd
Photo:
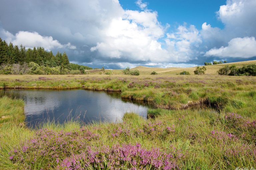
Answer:
[[[45,121],[120,122],[126,112],[147,117],[148,105],[121,99],[118,92],[92,90],[6,90],[25,102],[25,122],[34,127]]]

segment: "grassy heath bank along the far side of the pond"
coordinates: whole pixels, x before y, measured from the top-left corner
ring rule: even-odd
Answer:
[[[248,102],[256,77],[214,75],[0,75],[0,88],[120,91],[122,98],[151,102],[157,108],[187,109],[208,104],[217,109],[253,108]],[[247,106],[247,107],[245,107]]]

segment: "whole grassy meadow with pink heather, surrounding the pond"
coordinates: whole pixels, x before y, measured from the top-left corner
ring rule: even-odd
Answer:
[[[71,120],[31,129],[24,123],[23,101],[2,97],[0,169],[256,168],[256,77],[220,76],[220,65],[206,66],[205,75],[176,75],[195,68],[147,67],[136,68],[139,76],[121,70],[111,76],[100,70],[0,75],[2,89],[120,91],[123,98],[155,106],[147,120],[126,113],[122,123]]]

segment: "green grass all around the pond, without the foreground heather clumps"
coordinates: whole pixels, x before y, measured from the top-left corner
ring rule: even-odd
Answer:
[[[212,66],[213,67],[213,66]],[[216,66],[214,66],[216,67]],[[219,66],[218,66],[219,67]],[[38,75],[1,75],[0,86],[17,88],[85,88],[94,90],[121,91],[123,98],[151,102],[155,109],[148,110],[148,120],[136,113],[126,113],[122,123],[82,123],[69,121],[65,124],[48,122],[37,129],[24,126],[24,103],[8,97],[0,98],[0,169],[56,169],[48,168],[50,157],[40,158],[31,163],[13,163],[9,152],[21,150],[28,139],[35,137],[40,128],[56,132],[72,132],[81,126],[100,137],[88,142],[91,146],[113,146],[115,144],[141,143],[143,148],[160,148],[172,152],[173,148],[183,154],[178,159],[181,169],[235,169],[236,167],[256,167],[255,128],[245,128],[244,122],[256,120],[256,77],[235,77],[217,75],[49,75],[49,80],[38,80]],[[162,69],[155,69],[157,72]],[[182,69],[183,70],[183,69]],[[115,71],[113,71],[115,72]],[[152,71],[151,71],[152,72]],[[169,110],[171,109],[171,110]],[[226,120],[228,113],[237,113],[243,119]],[[173,127],[175,132],[156,130],[147,133],[149,125],[162,122],[163,128]],[[118,128],[126,133],[113,137]],[[157,128],[156,128],[157,129]],[[144,131],[143,131],[144,130]],[[224,137],[214,137],[212,131],[223,132]],[[236,139],[227,134],[236,135]],[[222,134],[222,133],[221,133]],[[236,154],[229,154],[235,150]],[[239,150],[242,151],[240,152]],[[232,152],[233,153],[233,152]],[[36,152],[27,155],[28,158]],[[29,168],[31,167],[31,168]]]

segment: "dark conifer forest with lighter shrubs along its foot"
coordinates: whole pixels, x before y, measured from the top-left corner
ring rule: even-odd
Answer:
[[[66,52],[26,48],[0,38],[0,74],[84,74],[88,66],[69,63]]]

